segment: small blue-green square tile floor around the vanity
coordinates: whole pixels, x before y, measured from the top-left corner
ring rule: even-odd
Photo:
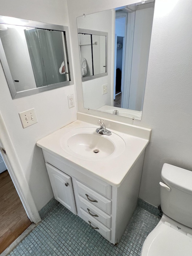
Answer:
[[[9,255],[139,256],[146,236],[158,221],[152,213],[137,207],[116,247],[58,203]]]

